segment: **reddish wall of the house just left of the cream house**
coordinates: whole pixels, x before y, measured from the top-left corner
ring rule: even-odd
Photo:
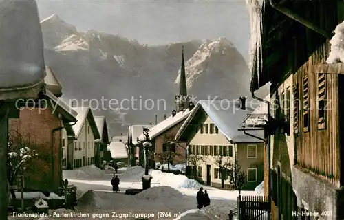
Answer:
[[[162,144],[167,141],[166,137],[168,138],[168,140],[173,140],[184,121],[185,120],[182,120],[182,122],[175,124],[175,126],[171,127],[171,129],[168,129],[167,131],[164,131],[164,133],[158,135],[158,137],[155,137],[155,154],[162,153]],[[186,144],[182,145],[186,147]],[[185,149],[178,146],[178,144],[175,148],[176,152],[180,154],[180,156],[175,157],[173,165],[185,163]],[[158,159],[156,162],[159,162]]]

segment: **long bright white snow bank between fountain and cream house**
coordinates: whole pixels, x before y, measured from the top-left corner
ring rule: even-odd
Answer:
[[[171,186],[172,188],[199,189],[202,187],[200,183],[193,179],[189,179],[184,175],[175,175],[173,173],[163,173],[160,170],[152,170],[150,175],[153,182],[158,182],[163,186]]]

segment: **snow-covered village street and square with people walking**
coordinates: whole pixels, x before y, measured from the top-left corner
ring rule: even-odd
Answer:
[[[69,177],[69,184],[74,184],[78,188],[76,210],[50,210],[49,216],[41,217],[41,220],[76,219],[71,215],[73,213],[82,214],[83,219],[228,219],[229,211],[236,210],[236,191],[219,190],[209,186],[203,187],[211,197],[211,206],[197,210],[195,195],[201,185],[194,180],[185,179],[182,175],[151,170],[153,187],[133,196],[125,195],[125,190],[142,188],[139,181],[134,181],[142,176],[144,172],[142,167],[118,170],[120,179],[121,176],[123,177],[118,193],[112,192],[110,184],[112,173],[109,170],[100,170],[94,166],[88,168],[89,170],[83,168],[83,171],[66,170],[65,172],[65,176]],[[75,179],[71,179],[73,176]],[[83,179],[85,177],[88,179]],[[242,195],[257,194],[244,191]],[[9,219],[25,218],[10,217]]]

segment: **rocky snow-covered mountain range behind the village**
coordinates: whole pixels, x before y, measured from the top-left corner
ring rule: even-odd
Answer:
[[[179,91],[182,45],[189,94],[198,99],[248,95],[248,66],[235,46],[223,38],[141,45],[120,35],[96,30],[79,32],[56,14],[41,21],[41,27],[45,62],[63,84],[63,98],[100,100],[103,97],[119,102],[135,98],[142,99],[142,108],[144,100],[166,100],[166,107],[160,103],[153,110],[140,109],[139,102],[134,107],[123,102],[123,107],[129,109],[96,112],[107,116],[111,135],[114,131],[124,133],[127,124],[154,123],[155,115],[161,121],[164,114],[171,113]]]

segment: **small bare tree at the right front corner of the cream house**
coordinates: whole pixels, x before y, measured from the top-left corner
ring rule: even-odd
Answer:
[[[230,177],[230,184],[234,186],[235,190],[239,191],[240,195],[241,188],[245,184],[246,174],[241,170],[241,166],[237,159],[235,159],[228,167],[228,176]]]

